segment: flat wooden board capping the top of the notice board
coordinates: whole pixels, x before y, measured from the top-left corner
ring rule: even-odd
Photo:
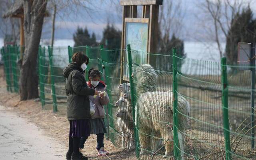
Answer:
[[[162,5],[163,0],[120,0],[121,6]]]

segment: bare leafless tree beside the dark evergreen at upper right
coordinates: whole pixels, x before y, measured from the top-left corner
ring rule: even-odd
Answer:
[[[202,22],[200,25],[211,39],[214,37],[220,57],[223,56],[221,42],[228,36],[231,20],[248,4],[250,0],[204,0],[198,6],[203,11],[203,16],[198,18]]]

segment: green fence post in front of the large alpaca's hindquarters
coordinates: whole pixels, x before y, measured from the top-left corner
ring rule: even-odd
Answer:
[[[176,60],[177,49],[172,48],[172,92],[173,92],[173,139],[174,139],[174,158],[178,159],[180,156],[180,150],[178,148],[178,133],[177,133],[177,126],[178,126],[178,118],[177,118],[177,105],[178,105],[178,94],[176,92],[178,85],[176,81],[176,74],[177,74],[177,60]]]

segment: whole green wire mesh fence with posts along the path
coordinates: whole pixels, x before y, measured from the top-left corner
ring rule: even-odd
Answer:
[[[20,50],[1,48],[9,92],[19,92]],[[255,159],[251,71],[226,64],[226,58],[221,62],[180,58],[175,48],[158,54],[130,45],[124,50],[102,45],[40,46],[38,87],[43,109],[51,106],[57,112],[66,107],[62,70],[78,51],[90,59],[86,80],[93,67],[106,82],[110,98],[105,106],[106,136],[116,147],[134,149],[142,160]],[[119,85],[126,83],[129,89],[123,92]]]

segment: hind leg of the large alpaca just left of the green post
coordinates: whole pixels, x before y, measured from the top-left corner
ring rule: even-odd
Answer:
[[[172,140],[172,130],[171,128],[164,128],[163,130],[160,131],[161,136],[164,139],[165,144],[165,154],[164,158],[171,156],[171,152],[173,150],[173,140]]]

